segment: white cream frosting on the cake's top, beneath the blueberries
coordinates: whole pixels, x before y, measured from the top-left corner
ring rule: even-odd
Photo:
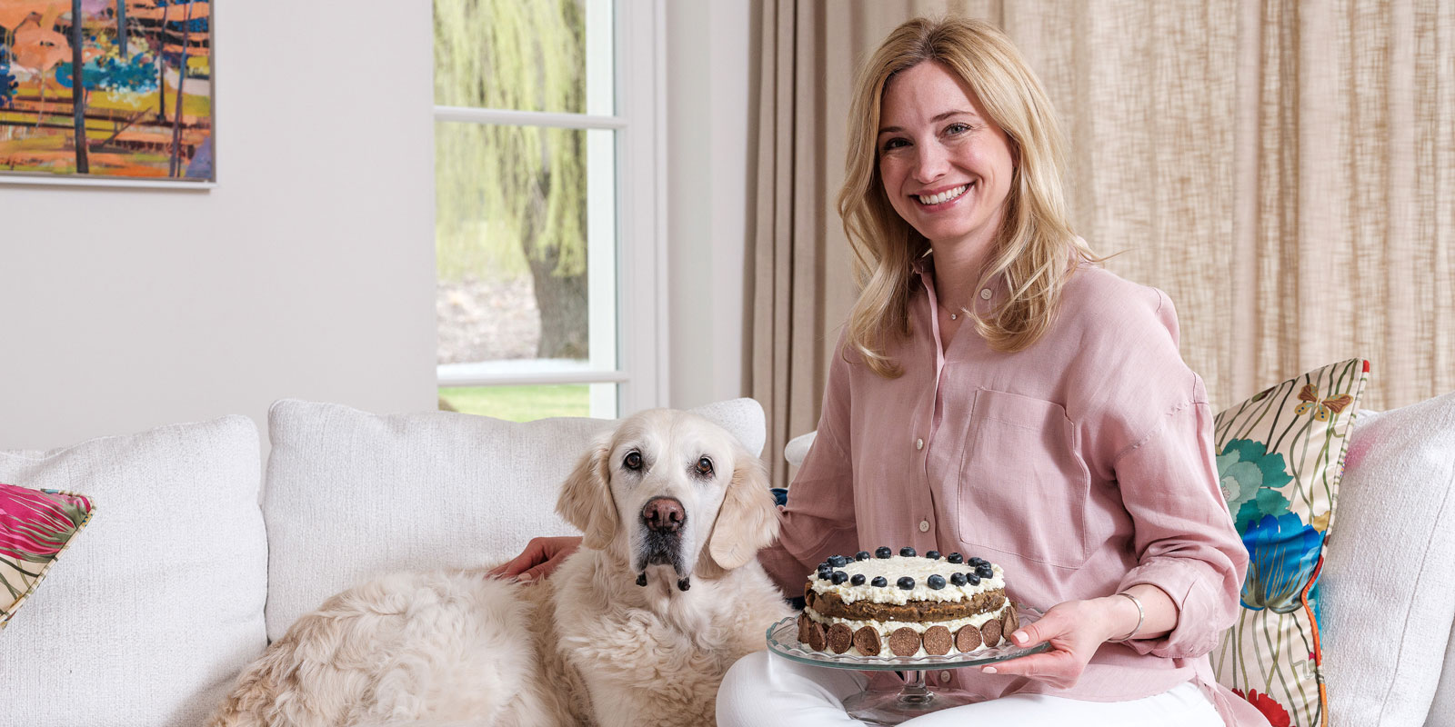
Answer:
[[[815,593],[834,593],[844,603],[853,603],[856,601],[869,601],[872,603],[895,603],[905,605],[911,601],[940,601],[940,602],[960,602],[976,593],[984,593],[986,590],[998,590],[1005,587],[1005,571],[1000,566],[992,564],[991,571],[994,573],[988,579],[981,579],[975,586],[969,583],[963,586],[956,586],[950,583],[952,573],[973,573],[975,566],[969,563],[953,564],[947,563],[944,558],[930,560],[922,555],[892,555],[889,558],[869,558],[869,560],[850,560],[840,569],[850,579],[857,573],[864,574],[863,586],[851,586],[847,580],[840,585],[834,585],[832,580],[818,577],[818,570],[809,574],[809,587]],[[930,587],[930,576],[943,576],[944,587],[933,589]],[[874,580],[874,576],[883,576],[889,582],[888,586],[870,586],[869,583]],[[905,590],[899,587],[899,577],[909,576],[914,579],[914,587]]]

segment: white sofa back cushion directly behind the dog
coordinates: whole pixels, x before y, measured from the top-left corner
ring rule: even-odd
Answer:
[[[752,452],[762,407],[751,398],[694,410]],[[269,411],[268,635],[370,577],[431,567],[480,567],[517,555],[537,535],[575,535],[556,515],[562,480],[615,423],[537,422],[425,411],[371,414],[284,400]]]

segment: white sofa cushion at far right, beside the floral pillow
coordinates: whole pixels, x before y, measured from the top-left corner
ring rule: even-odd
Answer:
[[[1419,727],[1455,621],[1455,394],[1360,414],[1346,459],[1323,579],[1330,720]]]

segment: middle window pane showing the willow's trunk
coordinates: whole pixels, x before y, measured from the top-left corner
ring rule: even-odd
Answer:
[[[441,365],[615,369],[614,166],[613,131],[436,122]]]

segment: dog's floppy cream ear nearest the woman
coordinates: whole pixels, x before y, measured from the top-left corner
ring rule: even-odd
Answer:
[[[733,459],[732,481],[707,541],[707,553],[723,570],[742,567],[778,535],[778,509],[762,459],[741,446]]]

